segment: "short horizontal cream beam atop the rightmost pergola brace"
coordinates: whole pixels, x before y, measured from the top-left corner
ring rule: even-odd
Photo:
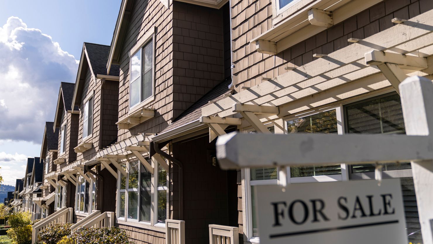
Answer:
[[[391,63],[400,66],[400,68],[409,70],[423,70],[428,68],[426,58],[377,50],[366,52],[365,62],[368,65]]]

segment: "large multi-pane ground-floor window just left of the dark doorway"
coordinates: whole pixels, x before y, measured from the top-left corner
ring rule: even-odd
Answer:
[[[148,159],[152,164],[152,161]],[[123,165],[128,177],[119,175],[118,218],[146,224],[165,224],[167,218],[167,172],[154,163],[149,172],[138,160]],[[153,189],[152,189],[153,187]],[[153,223],[152,223],[153,215]]]

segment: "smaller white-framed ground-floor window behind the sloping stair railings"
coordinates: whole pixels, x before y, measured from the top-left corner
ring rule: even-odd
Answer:
[[[95,210],[95,189],[96,183],[88,182],[83,176],[78,177],[79,184],[76,189],[75,211],[81,213],[91,213]],[[90,188],[91,187],[91,188]]]

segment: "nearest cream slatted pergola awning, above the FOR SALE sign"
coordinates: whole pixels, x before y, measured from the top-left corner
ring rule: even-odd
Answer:
[[[349,39],[354,43],[208,104],[202,116],[231,117],[240,113],[234,104],[278,107],[278,114],[255,113],[264,122],[371,91],[398,91],[408,75],[433,73],[427,65],[433,61],[432,15],[430,10],[365,39]]]

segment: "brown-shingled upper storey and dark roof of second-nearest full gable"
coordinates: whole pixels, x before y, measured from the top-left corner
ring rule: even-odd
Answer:
[[[77,75],[77,87],[74,91],[74,106],[80,108],[78,145],[91,143],[92,146],[82,153],[78,153],[77,159],[89,160],[96,156],[96,152],[108,146],[117,137],[119,82],[107,78],[97,78],[97,75],[106,75],[107,68],[104,62],[107,60],[110,46],[84,42],[81,55],[80,68]],[[88,57],[87,57],[88,55]],[[111,65],[110,75],[119,75],[119,65]],[[93,98],[91,133],[83,138],[84,107],[87,101]],[[90,117],[90,115],[89,115]]]

